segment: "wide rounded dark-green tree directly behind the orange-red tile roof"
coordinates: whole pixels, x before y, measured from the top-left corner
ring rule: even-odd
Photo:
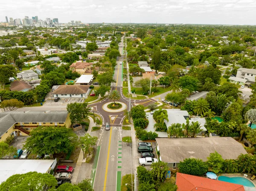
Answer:
[[[204,175],[208,171],[207,163],[203,162],[201,159],[187,158],[183,162],[180,161],[178,164],[180,173],[190,174],[195,176]]]

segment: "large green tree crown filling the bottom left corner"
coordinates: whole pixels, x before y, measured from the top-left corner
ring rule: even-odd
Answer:
[[[26,174],[15,174],[0,184],[0,190],[6,191],[42,191],[46,186],[55,187],[57,180],[51,174],[28,172]]]

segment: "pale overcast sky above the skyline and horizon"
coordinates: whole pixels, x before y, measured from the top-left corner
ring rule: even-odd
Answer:
[[[5,16],[58,18],[60,23],[256,24],[256,0],[3,0]]]

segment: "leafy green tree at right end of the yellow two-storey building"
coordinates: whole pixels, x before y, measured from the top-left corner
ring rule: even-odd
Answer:
[[[89,114],[88,103],[69,103],[67,104],[67,112],[70,114],[70,121],[72,124],[79,123],[87,118]]]

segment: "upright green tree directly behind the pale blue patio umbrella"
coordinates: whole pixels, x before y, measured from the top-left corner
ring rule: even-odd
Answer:
[[[220,154],[217,153],[217,151],[211,153],[209,157],[207,157],[207,159],[209,171],[212,171],[215,174],[219,174],[222,172],[224,159],[221,157]]]

